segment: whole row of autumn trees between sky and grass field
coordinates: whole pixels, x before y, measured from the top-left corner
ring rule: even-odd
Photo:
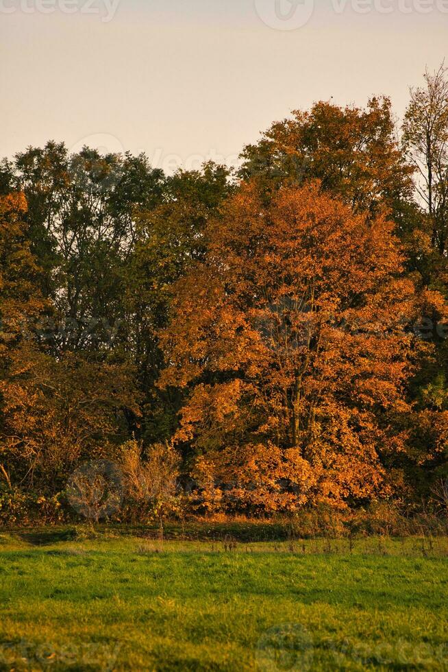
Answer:
[[[68,515],[105,459],[142,517],[158,479],[195,512],[443,506],[447,254],[443,67],[399,129],[319,102],[236,173],[3,160],[0,520]]]

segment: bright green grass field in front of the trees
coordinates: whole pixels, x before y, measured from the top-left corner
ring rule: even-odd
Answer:
[[[447,549],[0,533],[0,670],[448,669]]]

